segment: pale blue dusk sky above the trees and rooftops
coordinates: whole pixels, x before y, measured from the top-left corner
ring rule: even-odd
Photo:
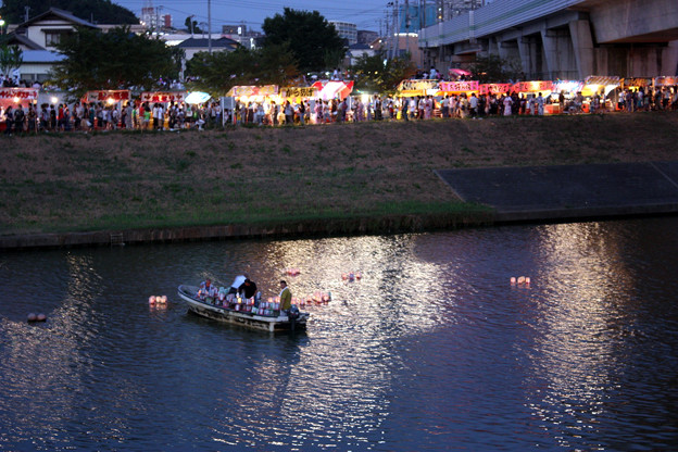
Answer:
[[[127,8],[137,16],[147,3],[161,8],[161,15],[171,14],[173,25],[183,27],[186,17],[194,14],[198,23],[208,23],[208,0],[112,0]],[[359,29],[380,30],[379,21],[386,18],[388,0],[341,0],[341,1],[311,1],[311,0],[212,0],[212,30],[218,33],[222,25],[244,24],[248,28],[261,30],[266,17],[282,13],[285,7],[302,10],[318,11],[328,21],[344,21],[355,23]],[[206,28],[206,26],[205,26]]]

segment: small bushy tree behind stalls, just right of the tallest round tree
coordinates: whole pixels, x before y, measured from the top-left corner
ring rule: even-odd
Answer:
[[[416,66],[410,55],[386,59],[386,53],[379,51],[374,55],[362,55],[352,66],[355,75],[355,89],[372,92],[393,91],[398,84],[411,78],[416,73]]]

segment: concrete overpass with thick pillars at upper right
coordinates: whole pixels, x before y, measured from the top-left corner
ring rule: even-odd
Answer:
[[[567,8],[530,16],[530,5],[544,9],[549,2]],[[517,13],[506,20],[511,8]],[[450,28],[452,38],[441,26],[422,30],[428,63],[444,67],[499,55],[525,79],[678,74],[678,0],[507,0],[474,13],[456,20],[456,28],[466,26]],[[502,26],[492,27],[492,15]]]

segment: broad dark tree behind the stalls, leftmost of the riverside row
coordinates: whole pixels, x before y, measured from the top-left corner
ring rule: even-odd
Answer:
[[[81,96],[89,89],[152,89],[160,78],[176,78],[181,51],[129,27],[109,33],[77,27],[56,46],[66,58],[56,63],[51,83]]]

